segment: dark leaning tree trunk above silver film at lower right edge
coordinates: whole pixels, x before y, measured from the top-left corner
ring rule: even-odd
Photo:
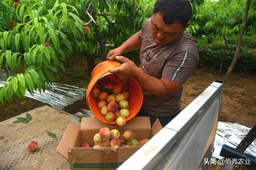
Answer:
[[[254,125],[253,128],[246,134],[246,136],[243,138],[243,140],[238,144],[236,147],[237,150],[240,150],[244,152],[248,146],[254,141],[256,138],[256,124]]]

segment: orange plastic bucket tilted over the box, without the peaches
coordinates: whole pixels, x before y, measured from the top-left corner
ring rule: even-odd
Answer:
[[[117,61],[103,61],[98,65],[96,65],[96,67],[94,67],[92,71],[91,81],[87,87],[87,92],[86,92],[87,104],[90,110],[92,111],[92,113],[95,115],[95,117],[97,117],[103,122],[111,123],[111,124],[116,124],[116,120],[112,122],[106,121],[105,116],[100,114],[100,109],[97,106],[97,103],[98,103],[97,99],[94,98],[90,94],[90,92],[98,80],[100,80],[106,75],[112,75],[112,73],[110,73],[109,70],[114,69],[118,64],[120,63],[118,63]],[[126,121],[132,119],[138,113],[143,101],[143,91],[142,91],[142,88],[140,87],[140,84],[132,77],[129,79],[129,82],[130,83],[128,85],[128,92],[130,93],[130,98],[128,99],[128,103],[129,103],[128,110],[130,111],[130,115],[126,117]]]

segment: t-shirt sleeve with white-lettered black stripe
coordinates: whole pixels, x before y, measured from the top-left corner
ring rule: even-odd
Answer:
[[[162,77],[184,84],[198,66],[198,53],[193,50],[178,51],[165,63]]]

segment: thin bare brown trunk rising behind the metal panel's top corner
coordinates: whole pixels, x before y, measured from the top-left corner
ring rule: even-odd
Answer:
[[[239,34],[238,43],[237,43],[237,46],[236,46],[236,52],[235,52],[233,61],[230,64],[230,67],[228,68],[228,71],[227,71],[227,73],[226,73],[226,75],[224,77],[224,83],[227,81],[230,73],[232,72],[232,69],[234,68],[236,60],[238,58],[238,54],[239,54],[240,47],[241,47],[241,44],[242,44],[242,38],[243,38],[243,35],[244,35],[244,30],[245,30],[245,27],[246,27],[246,20],[247,20],[249,8],[250,8],[250,0],[247,0],[247,2],[246,2],[246,9],[245,9],[245,12],[244,12],[244,20],[243,20],[243,23],[242,23],[242,28],[241,28],[241,31],[240,31],[240,34]]]

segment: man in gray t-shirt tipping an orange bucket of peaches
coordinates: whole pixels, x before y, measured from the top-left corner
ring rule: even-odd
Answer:
[[[188,0],[157,0],[142,30],[108,52],[108,60],[123,62],[110,72],[120,79],[133,77],[144,99],[137,116],[158,118],[162,127],[180,113],[182,85],[198,65],[198,49],[186,32],[192,9]],[[140,48],[140,67],[122,53]]]

